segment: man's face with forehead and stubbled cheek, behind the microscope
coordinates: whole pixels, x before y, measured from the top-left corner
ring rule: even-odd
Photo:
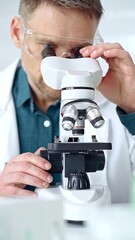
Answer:
[[[76,10],[61,11],[51,6],[41,5],[27,22],[20,21],[20,24],[22,29],[33,30],[31,33],[26,31],[25,38],[22,30],[21,36],[22,63],[31,88],[35,95],[43,98],[47,96],[55,101],[60,98],[60,91],[49,88],[43,82],[40,72],[41,50],[48,44],[53,46],[56,55],[62,55],[65,52],[74,53],[74,49],[88,45],[88,41],[93,39],[97,21]],[[51,36],[64,37],[67,40]],[[77,39],[77,41],[70,41],[70,39]],[[82,39],[88,41],[81,41]]]

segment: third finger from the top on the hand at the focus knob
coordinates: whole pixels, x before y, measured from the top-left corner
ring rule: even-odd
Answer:
[[[24,185],[35,186],[38,188],[49,187],[48,182],[23,172],[16,172],[16,173],[9,174],[8,177],[6,178],[6,183],[4,182],[4,180],[3,180],[3,183],[6,185],[24,184]]]

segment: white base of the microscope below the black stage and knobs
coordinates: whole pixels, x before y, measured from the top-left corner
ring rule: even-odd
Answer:
[[[52,200],[56,195],[63,201],[63,218],[68,221],[87,221],[93,207],[111,204],[107,186],[92,186],[88,190],[68,190],[63,186],[37,189],[38,197]]]

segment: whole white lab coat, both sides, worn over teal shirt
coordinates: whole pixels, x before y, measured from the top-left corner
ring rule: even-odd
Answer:
[[[6,162],[19,154],[18,129],[13,97],[11,94],[14,73],[18,61],[0,73],[0,171]],[[127,202],[131,176],[135,169],[135,138],[120,123],[116,106],[96,92],[95,102],[105,119],[100,129],[94,129],[86,121],[85,141],[96,134],[99,142],[111,142],[112,150],[106,150],[103,171],[90,174],[91,184],[106,184],[111,190],[112,202]]]

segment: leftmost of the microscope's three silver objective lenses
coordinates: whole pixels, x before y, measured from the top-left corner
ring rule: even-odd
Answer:
[[[78,111],[76,107],[74,105],[64,107],[62,115],[63,115],[62,127],[66,131],[72,130],[78,117]]]

